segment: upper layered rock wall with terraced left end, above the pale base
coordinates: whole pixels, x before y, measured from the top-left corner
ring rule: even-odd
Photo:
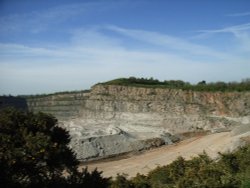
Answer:
[[[27,104],[32,111],[52,113],[59,119],[111,119],[119,113],[156,113],[164,117],[242,117],[250,115],[250,92],[194,92],[96,85],[90,92],[28,98]]]

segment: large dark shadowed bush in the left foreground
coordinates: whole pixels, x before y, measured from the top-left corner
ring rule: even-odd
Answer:
[[[67,131],[47,114],[0,111],[1,187],[107,187],[97,170],[77,171]]]

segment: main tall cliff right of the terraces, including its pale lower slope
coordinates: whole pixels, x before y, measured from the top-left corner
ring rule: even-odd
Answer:
[[[193,92],[97,85],[80,115],[167,127],[170,131],[230,126],[227,117],[250,115],[249,92]],[[240,121],[237,119],[236,121]],[[231,123],[230,123],[231,122]]]

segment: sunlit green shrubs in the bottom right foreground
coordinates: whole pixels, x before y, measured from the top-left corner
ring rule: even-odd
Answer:
[[[238,151],[220,154],[214,161],[206,153],[185,160],[179,157],[167,166],[157,167],[147,176],[137,174],[128,180],[117,176],[113,187],[167,188],[167,187],[250,187],[250,145]]]

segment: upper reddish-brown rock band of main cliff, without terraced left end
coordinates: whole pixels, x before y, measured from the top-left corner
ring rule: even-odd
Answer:
[[[89,99],[113,102],[113,105],[105,106],[111,111],[239,116],[249,114],[249,96],[249,92],[194,92],[97,85]],[[119,105],[117,102],[125,103]]]

